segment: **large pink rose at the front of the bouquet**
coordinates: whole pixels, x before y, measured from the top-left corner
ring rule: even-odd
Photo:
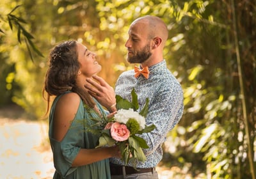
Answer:
[[[120,124],[118,122],[115,122],[111,125],[110,128],[111,136],[116,141],[125,141],[130,136],[130,131],[124,124]]]

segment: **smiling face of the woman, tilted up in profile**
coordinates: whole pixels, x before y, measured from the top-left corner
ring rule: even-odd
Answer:
[[[92,77],[101,70],[101,66],[96,61],[96,54],[89,51],[83,44],[77,42],[79,71],[86,77]]]

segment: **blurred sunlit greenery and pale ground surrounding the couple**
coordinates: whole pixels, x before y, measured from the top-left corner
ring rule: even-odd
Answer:
[[[159,171],[172,174],[161,178],[256,179],[254,0],[2,0],[0,12],[1,178],[52,173],[42,97],[52,47],[82,42],[97,54],[99,75],[115,87],[118,75],[133,67],[125,61],[129,25],[156,15],[169,29],[164,58],[182,84],[185,105],[159,164]],[[26,132],[34,138],[15,138]],[[35,148],[38,155],[29,152]],[[31,157],[30,164],[47,157],[30,175],[21,155]]]

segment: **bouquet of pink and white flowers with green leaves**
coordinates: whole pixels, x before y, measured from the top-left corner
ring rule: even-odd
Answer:
[[[154,130],[155,125],[146,125],[145,117],[148,113],[148,98],[140,113],[138,96],[134,89],[131,91],[132,102],[116,95],[117,113],[113,118],[101,120],[100,123],[100,146],[118,145],[122,160],[127,166],[129,160],[140,160],[145,162],[146,157],[143,148],[148,148],[146,141],[137,134],[143,134]],[[98,123],[98,124],[99,124]]]

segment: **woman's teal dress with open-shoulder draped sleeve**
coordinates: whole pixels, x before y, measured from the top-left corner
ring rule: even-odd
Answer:
[[[52,103],[51,112],[49,116],[49,139],[51,143],[54,167],[56,169],[53,178],[86,178],[86,179],[108,179],[110,176],[109,160],[100,160],[85,166],[72,167],[72,162],[76,158],[77,153],[81,148],[95,148],[99,140],[99,136],[95,136],[90,132],[86,132],[86,126],[93,123],[90,120],[92,117],[99,118],[97,114],[90,113],[88,109],[84,108],[83,101],[80,100],[76,116],[70,125],[70,128],[63,137],[62,141],[53,139],[53,117],[56,103],[62,95],[56,97]],[[104,113],[101,105],[97,102],[97,106],[101,113]]]

